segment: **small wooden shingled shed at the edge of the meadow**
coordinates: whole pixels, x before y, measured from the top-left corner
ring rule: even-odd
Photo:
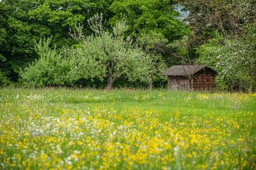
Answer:
[[[215,89],[216,73],[205,65],[175,65],[162,75],[168,75],[168,89],[188,90],[191,86],[194,90],[212,91]]]

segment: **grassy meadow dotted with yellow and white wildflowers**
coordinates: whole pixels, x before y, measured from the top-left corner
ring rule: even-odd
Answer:
[[[0,169],[256,169],[256,94],[0,89]]]

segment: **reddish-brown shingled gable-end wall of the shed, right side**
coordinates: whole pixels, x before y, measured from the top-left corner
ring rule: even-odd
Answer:
[[[203,69],[196,73],[193,77],[194,90],[214,90],[215,89],[215,75],[210,69]]]

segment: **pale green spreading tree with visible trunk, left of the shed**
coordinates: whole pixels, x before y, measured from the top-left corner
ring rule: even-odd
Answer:
[[[124,40],[125,21],[117,22],[112,27],[113,33],[102,27],[102,21],[102,15],[88,20],[95,35],[85,38],[82,27],[77,27],[77,33],[72,35],[81,42],[76,49],[67,49],[67,55],[72,56],[75,63],[72,77],[108,78],[106,89],[110,89],[116,78],[122,76],[129,81],[140,79],[147,82],[150,58],[129,39]]]

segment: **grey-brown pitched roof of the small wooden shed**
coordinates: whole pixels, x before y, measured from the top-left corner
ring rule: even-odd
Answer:
[[[162,75],[171,75],[171,76],[188,76],[189,74],[193,75],[196,72],[202,70],[203,68],[209,68],[205,65],[175,65],[166,70]],[[213,72],[217,73],[215,70],[211,69]]]

